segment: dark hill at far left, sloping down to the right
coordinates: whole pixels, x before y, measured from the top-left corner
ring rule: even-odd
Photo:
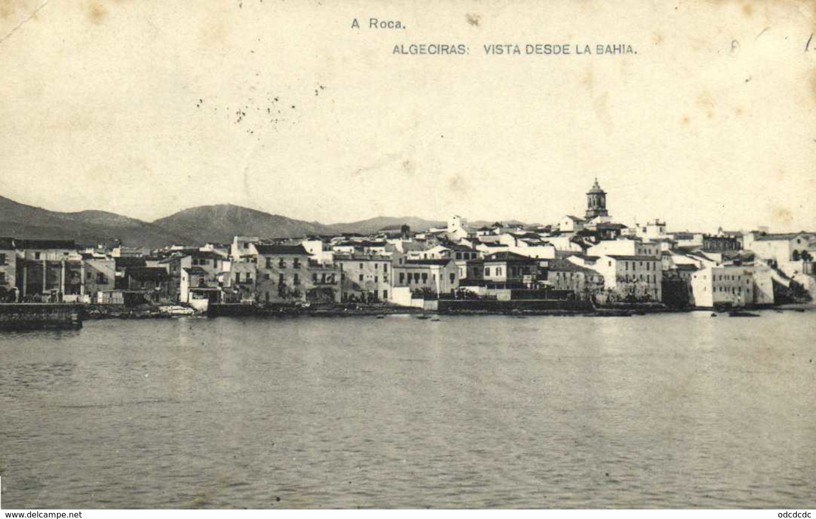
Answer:
[[[121,240],[127,246],[157,247],[188,242],[188,237],[156,225],[106,211],[63,213],[0,197],[0,236],[73,239],[80,245]]]

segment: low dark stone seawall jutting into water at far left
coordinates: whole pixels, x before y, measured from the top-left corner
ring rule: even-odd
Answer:
[[[82,328],[82,305],[19,303],[0,304],[0,330]]]

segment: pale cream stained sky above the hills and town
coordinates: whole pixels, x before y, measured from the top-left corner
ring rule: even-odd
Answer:
[[[0,195],[549,223],[597,176],[624,223],[816,229],[816,4],[626,5],[0,0]]]

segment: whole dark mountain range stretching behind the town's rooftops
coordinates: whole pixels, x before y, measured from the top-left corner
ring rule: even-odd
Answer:
[[[236,235],[270,238],[368,234],[384,228],[397,229],[402,224],[408,224],[414,231],[422,231],[446,223],[415,216],[378,216],[326,225],[229,204],[191,207],[153,222],[145,222],[108,211],[49,211],[0,197],[0,237],[73,239],[81,245],[111,243],[118,239],[128,246],[156,248],[173,243],[228,243]],[[481,227],[490,225],[490,222],[477,221],[471,225]]]

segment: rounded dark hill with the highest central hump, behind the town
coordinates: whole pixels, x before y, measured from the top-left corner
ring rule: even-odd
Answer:
[[[191,207],[153,222],[168,233],[193,238],[195,242],[232,242],[233,236],[302,237],[308,234],[338,234],[318,222],[292,220],[242,206]]]

